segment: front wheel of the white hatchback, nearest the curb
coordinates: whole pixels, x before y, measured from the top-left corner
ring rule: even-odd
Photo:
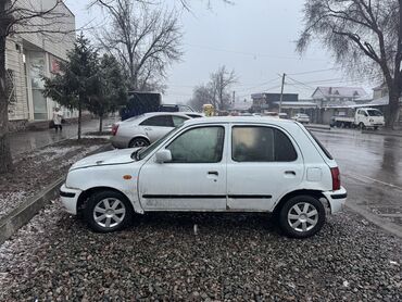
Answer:
[[[116,191],[104,190],[93,193],[84,210],[88,226],[98,232],[123,229],[133,218],[134,211],[127,198]]]

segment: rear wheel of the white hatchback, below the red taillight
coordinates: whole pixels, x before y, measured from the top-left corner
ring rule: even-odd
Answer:
[[[278,216],[280,229],[292,238],[311,237],[325,224],[324,205],[311,196],[297,196],[287,200]]]

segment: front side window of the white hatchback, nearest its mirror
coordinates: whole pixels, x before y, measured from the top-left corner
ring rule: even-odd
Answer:
[[[192,128],[171,142],[172,163],[218,163],[222,161],[225,129],[221,126]]]

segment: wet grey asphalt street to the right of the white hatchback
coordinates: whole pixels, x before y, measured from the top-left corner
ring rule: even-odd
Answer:
[[[337,161],[348,204],[402,230],[402,137],[353,129],[314,133]]]

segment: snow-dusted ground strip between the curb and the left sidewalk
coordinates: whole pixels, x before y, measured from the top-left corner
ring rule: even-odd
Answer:
[[[99,138],[68,139],[18,155],[15,171],[0,175],[0,218],[65,175],[73,163],[105,143],[108,140]]]

